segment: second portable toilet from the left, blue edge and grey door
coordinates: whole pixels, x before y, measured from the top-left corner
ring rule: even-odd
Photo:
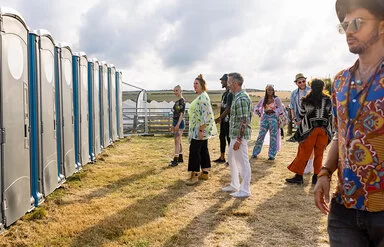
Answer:
[[[37,206],[63,181],[57,162],[55,42],[46,30],[29,34],[31,187]]]

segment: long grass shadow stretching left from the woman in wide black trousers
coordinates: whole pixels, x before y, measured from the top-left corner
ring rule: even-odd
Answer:
[[[139,199],[133,205],[80,232],[70,246],[102,246],[117,241],[125,231],[165,217],[169,204],[186,196],[195,188],[196,186],[185,186],[182,180],[175,181],[164,188],[164,193]]]

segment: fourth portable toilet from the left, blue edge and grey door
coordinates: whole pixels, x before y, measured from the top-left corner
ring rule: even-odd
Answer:
[[[88,59],[84,52],[74,53],[73,100],[75,113],[75,160],[78,169],[90,161],[88,136]]]

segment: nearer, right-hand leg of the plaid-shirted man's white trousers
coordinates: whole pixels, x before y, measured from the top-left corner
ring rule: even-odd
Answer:
[[[235,151],[236,164],[242,178],[240,190],[251,194],[251,165],[248,158],[248,142],[246,139],[241,140],[239,150]]]

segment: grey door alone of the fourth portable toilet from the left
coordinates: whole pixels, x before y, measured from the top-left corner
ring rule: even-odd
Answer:
[[[80,155],[81,165],[90,162],[89,156],[89,135],[88,135],[88,59],[84,52],[80,53],[79,60],[79,109],[80,109]]]

